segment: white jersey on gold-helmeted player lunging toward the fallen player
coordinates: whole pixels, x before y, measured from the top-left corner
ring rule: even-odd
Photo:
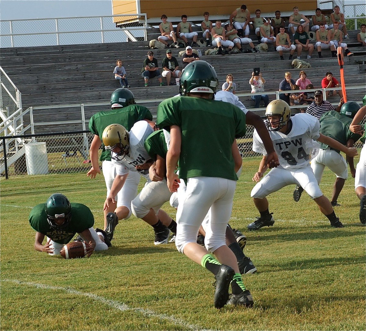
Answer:
[[[151,157],[146,152],[144,143],[147,137],[154,132],[153,128],[146,121],[138,121],[132,126],[130,134],[130,150],[122,160],[114,160],[112,162],[116,164],[116,171],[118,175],[126,175],[128,171],[138,171],[141,176],[145,177],[148,181],[149,169],[137,170],[136,165],[142,165]],[[115,153],[112,153],[114,156]]]

